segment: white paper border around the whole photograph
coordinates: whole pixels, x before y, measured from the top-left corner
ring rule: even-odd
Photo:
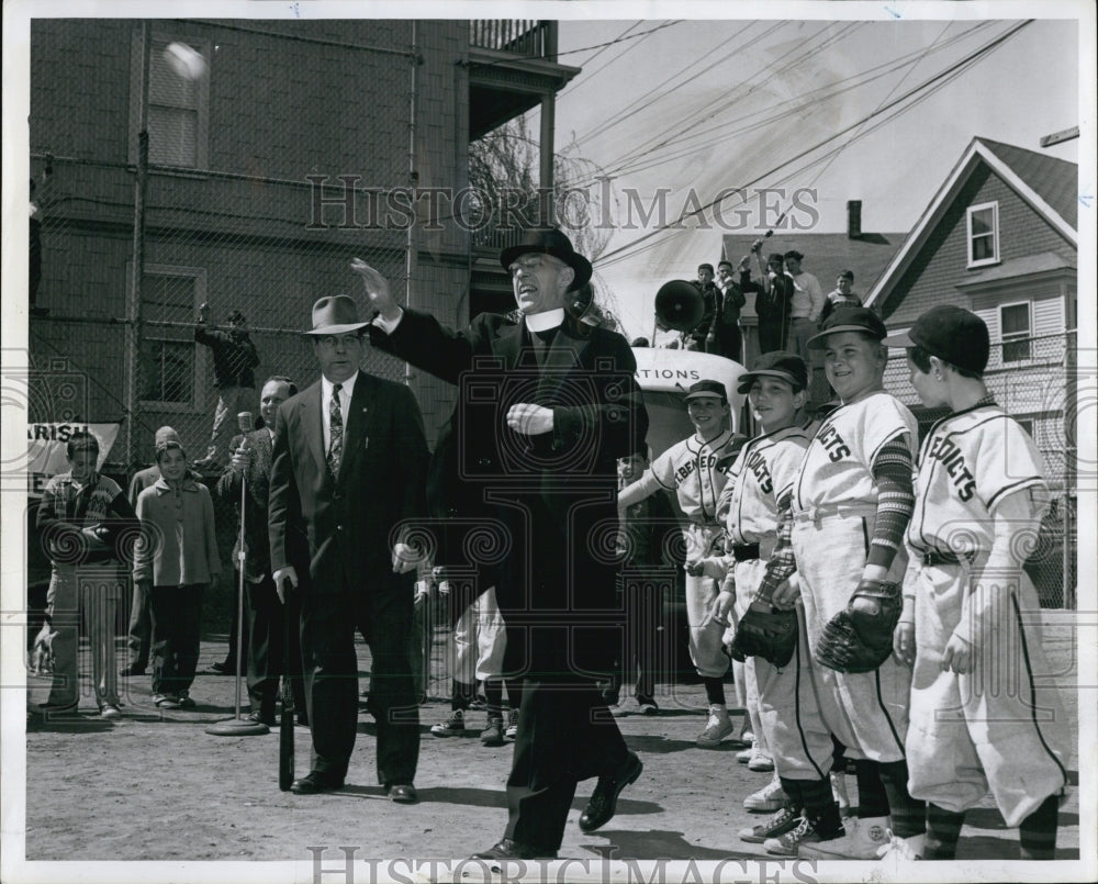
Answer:
[[[37,7],[37,8],[36,8]],[[156,10],[163,10],[160,15]],[[1095,7],[1090,2],[1023,2],[1021,0],[995,0],[994,2],[819,2],[819,0],[784,0],[783,2],[730,2],[729,0],[696,0],[690,5],[662,0],[639,7],[646,18],[690,18],[690,19],[782,19],[782,20],[878,20],[905,19],[932,20],[979,20],[979,19],[1077,19],[1079,21],[1079,266],[1078,291],[1080,298],[1094,298],[1096,289],[1095,242],[1096,232],[1096,182],[1093,178],[1098,165],[1095,152],[1095,83],[1096,35]],[[109,18],[109,19],[155,19],[186,18],[204,19],[322,19],[322,18],[378,18],[378,19],[488,19],[488,18],[558,18],[562,20],[632,20],[637,16],[638,4],[625,0],[578,0],[556,2],[554,0],[527,0],[526,2],[434,2],[413,1],[402,3],[340,2],[339,0],[278,0],[277,2],[246,2],[245,0],[219,0],[205,2],[179,0],[179,2],[77,2],[76,0],[5,0],[3,3],[3,323],[2,365],[0,370],[9,371],[20,367],[20,354],[26,351],[27,324],[25,305],[26,292],[26,246],[23,238],[26,204],[29,201],[27,174],[30,168],[29,114],[30,114],[30,19],[35,18]],[[366,13],[369,14],[366,14]],[[1038,60],[1037,64],[1040,64]],[[1020,74],[1024,76],[1024,74]],[[16,232],[18,231],[18,232]],[[1079,310],[1078,353],[1080,369],[1098,371],[1095,360],[1096,304],[1084,301]],[[25,358],[25,357],[23,357]],[[7,406],[9,403],[4,403]],[[1098,407],[1095,403],[1080,403],[1080,443],[1094,444],[1098,439]],[[10,452],[25,446],[25,415],[12,413],[5,407],[0,421],[0,465]],[[1079,538],[1098,536],[1098,519],[1095,512],[1095,480],[1083,483],[1078,507]],[[1090,492],[1084,502],[1084,492]],[[3,531],[0,535],[0,685],[11,689],[23,687],[23,629],[25,613],[22,612],[21,583],[23,581],[22,548],[24,538],[19,519],[23,517],[25,501],[18,494],[4,494]],[[16,530],[15,527],[19,527]],[[1096,597],[1095,574],[1098,568],[1088,568],[1082,557],[1089,549],[1079,545],[1079,573],[1086,574],[1090,585],[1080,585],[1078,595],[1079,649],[1078,672],[1079,694],[1079,861],[1057,861],[1051,863],[981,862],[974,868],[965,863],[964,869],[951,863],[922,863],[918,866],[919,881],[1093,881],[1098,877],[1098,826],[1096,826],[1096,776],[1098,776],[1098,739],[1096,718],[1098,703],[1095,690],[1098,687],[1098,597]],[[1093,562],[1091,562],[1093,564]],[[5,640],[4,640],[5,639]],[[120,881],[210,881],[223,882],[268,882],[301,881],[313,882],[312,863],[301,862],[26,862],[23,859],[23,830],[25,820],[25,764],[26,745],[23,723],[24,697],[22,690],[0,691],[0,765],[2,765],[3,797],[0,803],[0,880],[7,882],[114,882]],[[471,813],[477,812],[475,809]],[[485,812],[486,813],[486,812]],[[495,813],[495,812],[493,812]],[[567,861],[560,861],[564,863]],[[594,862],[594,861],[593,861]],[[703,869],[715,863],[698,863]],[[610,863],[616,870],[615,881],[625,881],[624,865]],[[553,869],[553,865],[549,866]],[[669,877],[680,869],[685,880],[693,880],[688,863],[668,866]],[[574,870],[573,870],[574,871]],[[571,872],[568,873],[571,875]],[[874,881],[888,880],[883,868],[872,872],[864,865],[837,863],[828,866],[817,880],[859,880],[867,874]],[[328,880],[335,880],[328,877]],[[358,879],[356,879],[358,880]],[[381,879],[378,879],[381,880]],[[469,879],[475,881],[478,879]],[[569,876],[567,880],[579,880]],[[735,880],[735,879],[733,879]],[[915,879],[910,879],[915,880]]]

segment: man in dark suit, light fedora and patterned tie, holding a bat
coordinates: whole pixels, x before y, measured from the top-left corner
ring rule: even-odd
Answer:
[[[301,598],[305,705],[313,736],[299,795],[343,787],[355,745],[355,628],[372,657],[378,781],[416,801],[419,714],[408,658],[416,556],[399,541],[426,516],[427,443],[412,391],[359,370],[362,329],[346,294],[313,305],[321,380],[278,410],[271,463],[271,568]],[[392,550],[392,552],[390,552]]]

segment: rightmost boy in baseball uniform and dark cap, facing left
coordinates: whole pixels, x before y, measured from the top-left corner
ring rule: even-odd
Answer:
[[[911,385],[950,414],[919,451],[907,531],[910,580],[895,650],[914,665],[907,757],[927,802],[922,859],[952,860],[965,810],[990,791],[1021,858],[1052,860],[1067,785],[1063,709],[1047,673],[1033,584],[1022,570],[1049,501],[1033,440],[983,381],[984,321],[942,305],[906,335]]]

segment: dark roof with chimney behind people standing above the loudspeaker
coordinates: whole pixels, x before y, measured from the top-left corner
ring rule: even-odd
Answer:
[[[772,251],[799,251],[805,256],[804,269],[820,281],[825,292],[834,288],[834,278],[841,270],[853,270],[854,291],[867,292],[892,260],[904,242],[903,233],[863,233],[851,239],[845,233],[806,233],[777,231],[762,249],[763,262]],[[758,234],[725,234],[721,246],[724,257],[732,264],[751,251]],[[758,275],[759,266],[752,259],[751,270]]]

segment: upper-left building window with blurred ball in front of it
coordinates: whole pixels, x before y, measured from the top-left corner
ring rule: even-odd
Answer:
[[[148,161],[153,166],[202,169],[208,165],[210,123],[210,77],[188,80],[180,77],[164,58],[169,43],[184,42],[206,59],[209,41],[152,34],[148,58]],[[142,31],[134,31],[134,58],[131,65],[130,161],[137,161],[137,133],[141,128]]]

